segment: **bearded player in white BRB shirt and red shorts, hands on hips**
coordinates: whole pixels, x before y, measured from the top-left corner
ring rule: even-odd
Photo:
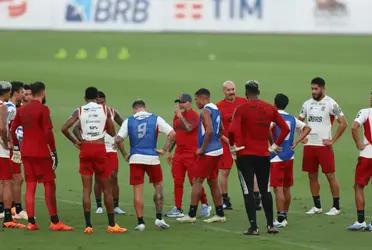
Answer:
[[[305,141],[302,170],[308,172],[310,191],[313,196],[314,207],[306,214],[320,214],[323,212],[320,202],[320,184],[318,180],[319,165],[326,175],[333,196],[333,206],[326,215],[339,215],[340,186],[336,179],[335,158],[332,145],[342,136],[347,121],[340,106],[326,95],[325,81],[320,77],[311,80],[312,98],[306,101],[299,116],[311,128],[311,133]],[[335,136],[332,137],[334,120],[339,124]]]

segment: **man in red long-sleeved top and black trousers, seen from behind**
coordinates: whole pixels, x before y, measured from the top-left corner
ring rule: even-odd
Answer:
[[[273,225],[273,198],[268,189],[270,176],[270,151],[278,152],[289,133],[289,128],[278,110],[269,103],[258,99],[259,83],[248,81],[245,85],[248,102],[239,106],[234,114],[229,131],[230,145],[241,148],[237,152],[237,165],[243,187],[244,202],[250,228],[246,235],[258,235],[256,207],[254,203],[254,175],[257,177],[262,205],[267,220],[267,232],[278,233]],[[269,148],[270,126],[275,123],[280,134]]]

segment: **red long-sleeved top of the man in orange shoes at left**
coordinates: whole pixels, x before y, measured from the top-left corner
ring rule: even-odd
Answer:
[[[41,102],[32,100],[17,110],[11,128],[15,145],[18,145],[16,129],[19,126],[23,127],[22,156],[50,157],[51,151],[56,150],[50,111]]]

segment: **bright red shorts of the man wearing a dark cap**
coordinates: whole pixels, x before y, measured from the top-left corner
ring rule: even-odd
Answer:
[[[196,156],[195,154],[175,154],[172,163],[172,175],[175,182],[183,183],[186,173],[192,183],[195,177]]]

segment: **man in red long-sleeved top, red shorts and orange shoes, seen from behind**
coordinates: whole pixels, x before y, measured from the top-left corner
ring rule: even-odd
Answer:
[[[52,231],[71,231],[57,215],[55,169],[58,166],[56,145],[50,111],[45,103],[45,85],[35,82],[31,85],[32,101],[21,107],[11,127],[13,137],[13,159],[20,156],[16,129],[23,127],[24,135],[21,147],[22,162],[26,179],[26,210],[28,213],[27,229],[38,230],[35,221],[35,194],[38,183],[43,183],[45,202],[48,207]],[[16,162],[16,161],[15,161]]]

